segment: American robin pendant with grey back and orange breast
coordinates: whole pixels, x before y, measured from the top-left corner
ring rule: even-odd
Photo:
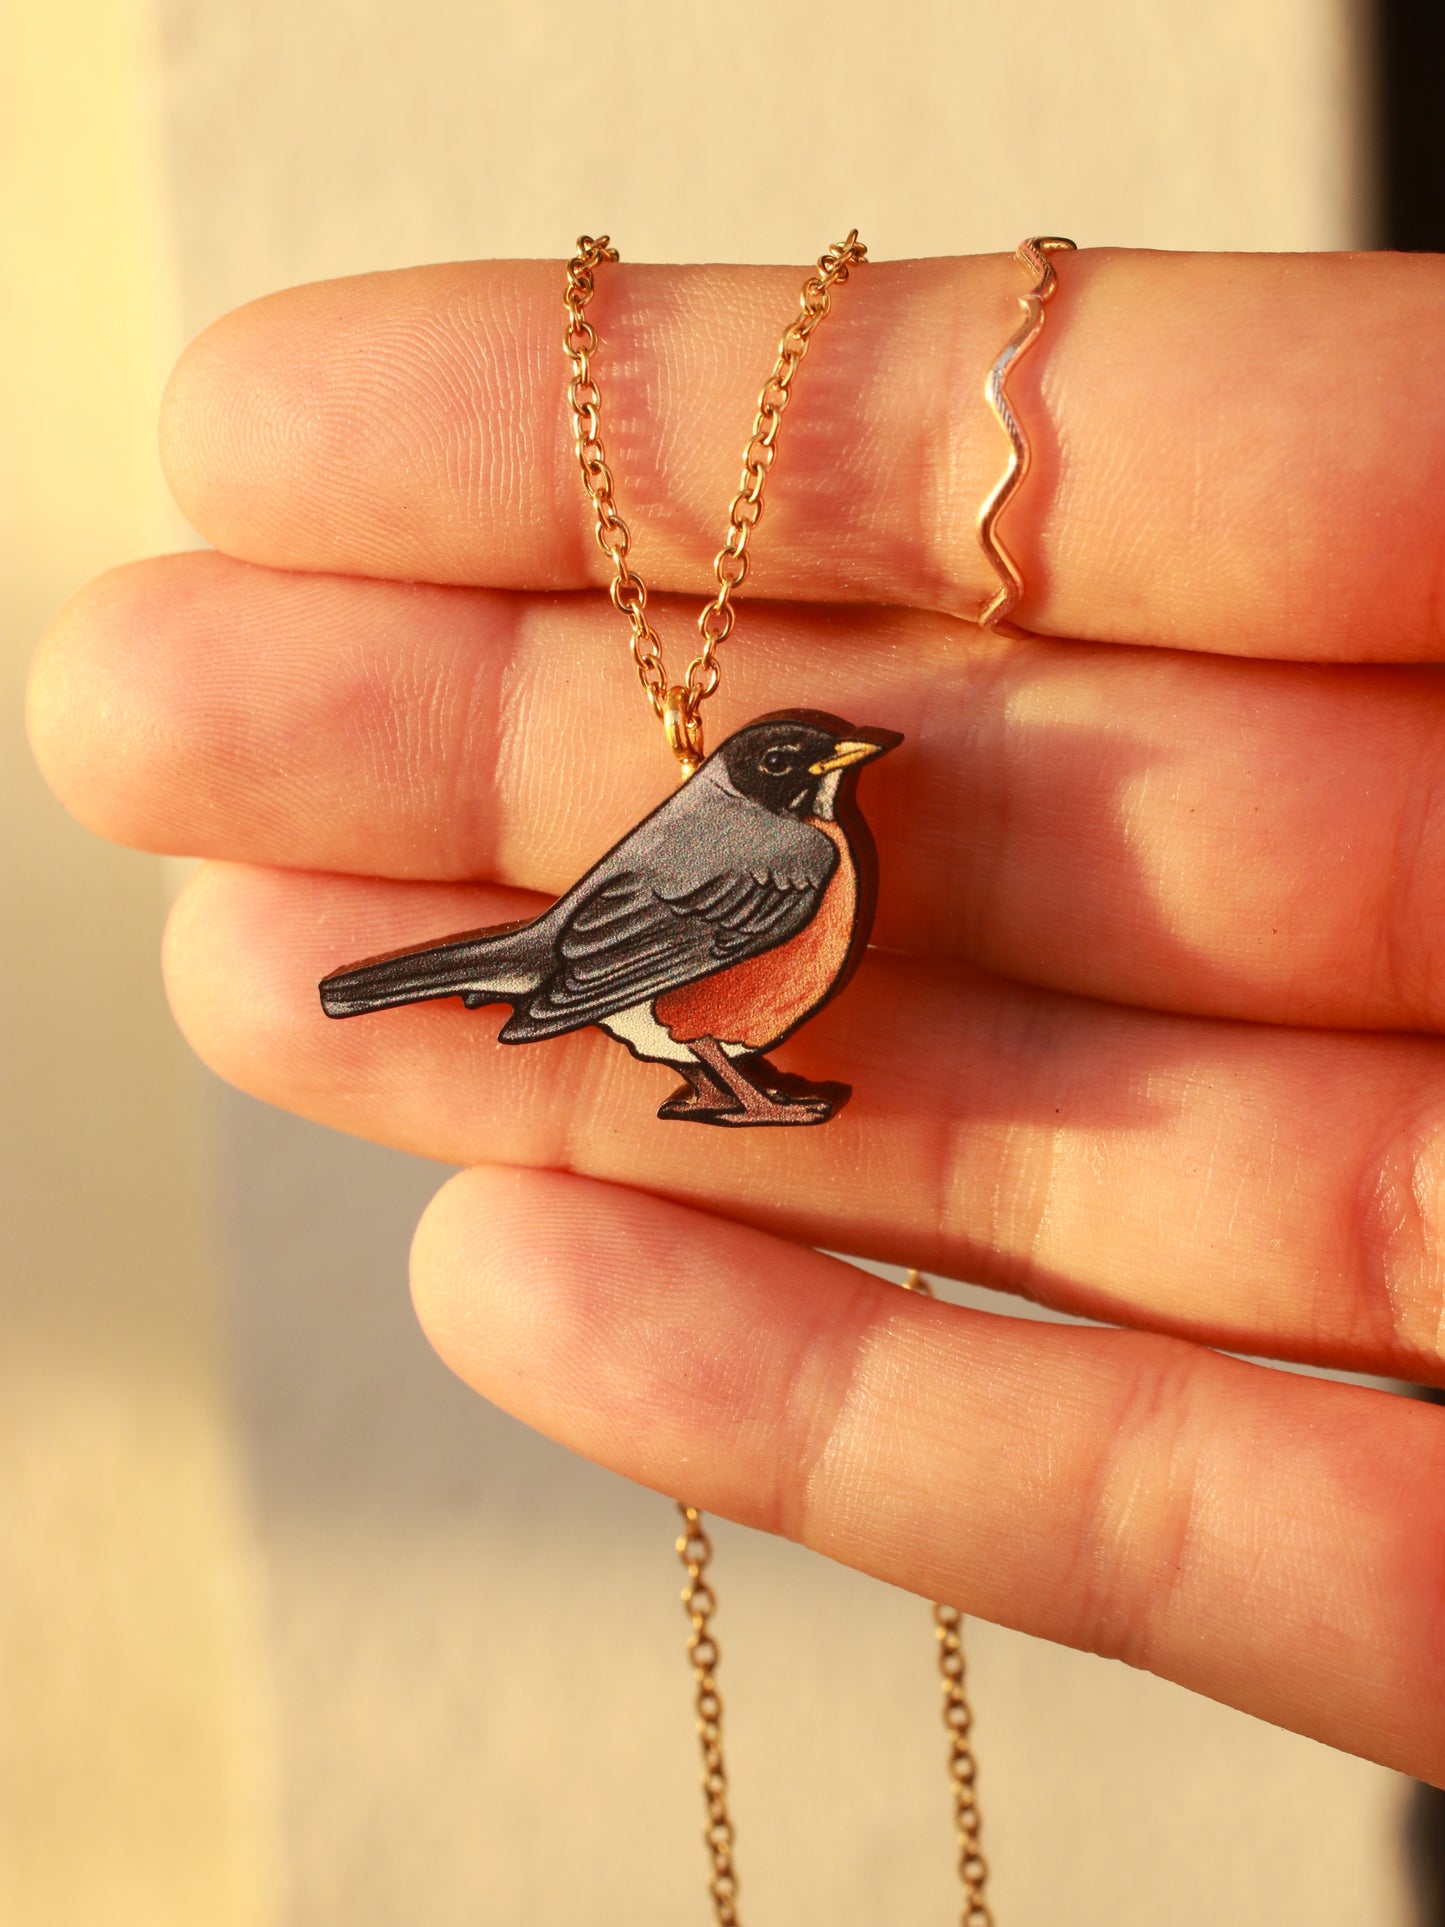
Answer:
[[[813,709],[748,723],[551,910],[333,971],[322,1010],[511,1004],[503,1044],[597,1025],[678,1069],[659,1118],[827,1123],[850,1087],[775,1069],[767,1052],[861,962],[877,852],[857,773],[900,742]]]

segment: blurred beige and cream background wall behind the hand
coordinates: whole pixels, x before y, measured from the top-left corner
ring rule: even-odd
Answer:
[[[279,1118],[164,1016],[164,873],[31,773],[23,663],[177,545],[189,333],[459,254],[803,262],[1035,229],[1368,239],[1345,0],[52,0],[0,19],[6,567],[0,1921],[709,1917],[672,1515],[430,1357],[439,1172]],[[719,1532],[749,1923],[956,1917],[925,1607]],[[1395,1927],[1406,1786],[969,1628],[1000,1927]]]

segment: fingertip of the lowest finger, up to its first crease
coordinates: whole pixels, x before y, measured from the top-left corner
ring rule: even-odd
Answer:
[[[882,1291],[834,1258],[565,1172],[464,1172],[412,1245],[416,1316],[474,1391],[769,1530],[788,1530],[817,1412]]]

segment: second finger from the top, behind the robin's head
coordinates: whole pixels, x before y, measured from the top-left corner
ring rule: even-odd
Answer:
[[[1004,644],[900,611],[749,620],[721,715],[786,688],[904,730],[863,786],[880,942],[1212,1016],[1445,1023],[1432,673]],[[601,597],[216,555],[71,603],[31,717],[94,829],[318,869],[559,892],[670,780]]]

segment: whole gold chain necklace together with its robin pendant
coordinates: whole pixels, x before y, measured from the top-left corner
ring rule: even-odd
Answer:
[[[410,950],[349,964],[320,985],[329,1017],[397,1004],[460,998],[468,1010],[511,1006],[499,1043],[532,1044],[597,1027],[644,1064],[680,1075],[657,1112],[663,1122],[719,1129],[828,1123],[848,1102],[840,1083],[778,1069],[769,1052],[848,983],[873,929],[877,852],[857,807],[865,763],[896,750],[890,728],[859,728],[815,709],[782,709],[734,730],[711,755],[701,707],[719,684],[717,649],[732,630],[734,595],[748,578],[748,545],[763,515],[778,430],[813,330],[832,289],[865,260],[857,231],[828,249],[803,281],[778,356],[757,401],[742,484],[713,561],[717,594],[697,617],[701,647],[672,682],[647,620],[647,588],[628,561],[632,534],[618,515],[601,441],[601,393],[591,372],[597,335],[588,322],[595,272],[615,262],[607,235],[582,235],[566,268],[568,403],[576,455],[611,563],[611,597],[632,630],[638,680],[661,719],[682,784],[539,917],[434,938]],[[927,1291],[911,1272],[907,1285]],[[707,1580],[713,1555],[701,1515],[682,1505],[678,1555],[692,1632],[697,1736],[703,1755],[703,1838],[719,1927],[738,1927],[738,1875],[722,1761],[719,1651]],[[948,1773],[963,1883],[963,1927],[992,1927],[979,1852],[979,1806],[969,1748],[961,1615],[934,1605],[944,1682]]]

